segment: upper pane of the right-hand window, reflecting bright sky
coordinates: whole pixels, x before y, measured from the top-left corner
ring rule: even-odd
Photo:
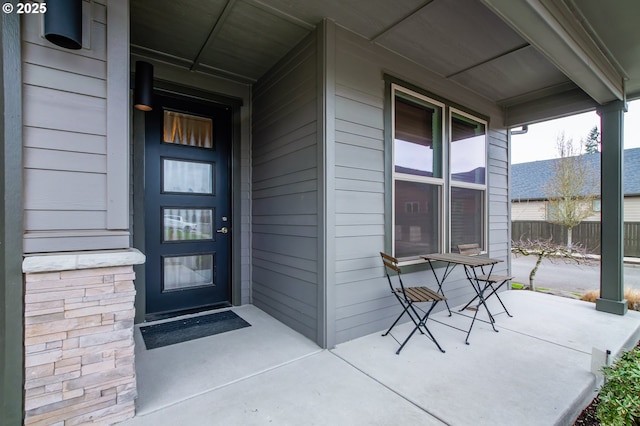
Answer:
[[[486,131],[482,123],[451,114],[451,178],[484,185]]]

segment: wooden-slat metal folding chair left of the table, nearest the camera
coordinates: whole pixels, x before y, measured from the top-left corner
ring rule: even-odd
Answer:
[[[402,282],[402,273],[400,271],[400,267],[398,266],[398,259],[395,257],[389,256],[386,253],[380,252],[380,256],[382,256],[382,262],[385,266],[385,273],[387,275],[387,281],[389,282],[389,288],[391,289],[391,293],[398,299],[400,305],[402,305],[402,312],[396,318],[396,320],[391,324],[391,327],[387,330],[383,336],[386,336],[391,332],[393,327],[400,321],[400,318],[407,314],[411,321],[415,325],[413,331],[407,336],[407,338],[402,342],[400,348],[396,351],[396,354],[400,354],[400,351],[407,344],[409,339],[416,333],[416,331],[420,331],[421,334],[426,334],[428,337],[436,344],[438,349],[444,353],[444,349],[440,347],[438,341],[433,337],[429,328],[427,328],[427,319],[429,318],[429,314],[436,307],[438,302],[446,301],[446,297],[436,293],[431,290],[429,287],[405,287]],[[395,276],[400,287],[394,287],[392,277]],[[421,309],[416,306],[417,303],[429,303],[430,306],[427,310]],[[418,311],[422,312],[422,316],[418,313]]]

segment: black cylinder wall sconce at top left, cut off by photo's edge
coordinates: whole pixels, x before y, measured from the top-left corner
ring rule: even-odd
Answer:
[[[65,49],[82,49],[82,0],[48,0],[44,37]]]

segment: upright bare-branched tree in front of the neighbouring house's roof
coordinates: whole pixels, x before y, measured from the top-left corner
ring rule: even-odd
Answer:
[[[593,200],[600,192],[599,174],[581,155],[581,147],[564,133],[558,135],[556,148],[560,158],[552,163],[551,178],[544,188],[547,222],[567,229],[567,247],[571,248],[573,228],[593,214]]]

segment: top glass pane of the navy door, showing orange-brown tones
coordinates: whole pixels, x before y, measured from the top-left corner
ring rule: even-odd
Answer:
[[[213,121],[197,115],[164,111],[165,143],[213,148]]]

